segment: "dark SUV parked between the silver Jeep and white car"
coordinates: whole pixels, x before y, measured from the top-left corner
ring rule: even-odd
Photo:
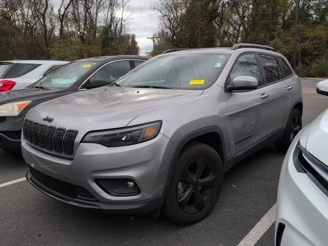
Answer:
[[[26,113],[35,105],[115,82],[144,63],[145,56],[101,56],[72,61],[27,88],[0,93],[0,148],[19,150]]]

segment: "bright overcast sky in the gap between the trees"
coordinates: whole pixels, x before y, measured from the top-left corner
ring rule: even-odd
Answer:
[[[136,35],[140,47],[140,55],[144,55],[146,50],[153,49],[152,40],[147,36],[152,36],[158,29],[158,19],[151,8],[155,0],[131,0],[133,13],[130,20],[130,32]]]

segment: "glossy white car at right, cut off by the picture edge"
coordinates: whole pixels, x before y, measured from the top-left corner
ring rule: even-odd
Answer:
[[[317,84],[328,95],[328,80]],[[328,245],[328,109],[294,138],[279,180],[276,246]]]

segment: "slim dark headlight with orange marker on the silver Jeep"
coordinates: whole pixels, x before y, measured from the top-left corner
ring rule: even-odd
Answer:
[[[160,130],[161,121],[136,127],[87,133],[82,142],[92,142],[106,147],[135,145],[155,138]]]

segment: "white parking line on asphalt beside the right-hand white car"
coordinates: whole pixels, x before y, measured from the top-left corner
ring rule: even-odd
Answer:
[[[237,246],[254,246],[255,243],[268,231],[272,224],[276,221],[277,203],[266,213],[255,227],[247,234]]]

